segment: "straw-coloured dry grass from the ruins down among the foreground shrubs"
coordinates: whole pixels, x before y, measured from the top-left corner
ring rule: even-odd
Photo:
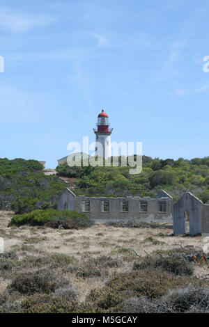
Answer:
[[[84,230],[54,230],[25,225],[8,228],[12,216],[13,212],[0,212],[0,237],[5,240],[5,251],[17,254],[19,264],[17,271],[0,276],[0,293],[16,273],[36,271],[39,267],[61,273],[77,289],[79,301],[85,301],[92,289],[101,289],[116,273],[122,276],[132,271],[134,260],[137,259],[134,251],[140,257],[145,257],[155,250],[172,250],[181,246],[201,250],[203,247],[202,237],[174,237],[171,228],[116,228],[103,224],[95,224]],[[54,253],[61,255],[61,261],[58,257],[56,260],[52,257]],[[72,257],[72,263],[62,255]],[[97,263],[93,260],[102,256],[118,260],[118,265],[107,267],[100,264],[101,274],[98,274]],[[208,265],[194,266],[197,278],[206,273]]]

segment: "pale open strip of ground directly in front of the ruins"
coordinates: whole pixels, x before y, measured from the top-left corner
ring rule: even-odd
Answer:
[[[47,253],[59,250],[59,253],[67,255],[109,255],[118,248],[132,248],[137,254],[146,255],[153,250],[168,250],[176,246],[203,247],[202,237],[173,237],[171,228],[115,228],[103,224],[95,224],[84,230],[54,230],[26,225],[8,227],[12,216],[13,212],[0,212],[0,236],[4,238],[6,251],[17,245],[31,244]],[[162,244],[144,242],[148,237]]]

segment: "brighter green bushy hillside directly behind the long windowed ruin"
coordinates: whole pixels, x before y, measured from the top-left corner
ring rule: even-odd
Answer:
[[[88,196],[155,196],[164,189],[177,200],[191,191],[203,202],[209,200],[209,157],[187,160],[152,159],[143,156],[143,170],[130,175],[130,167],[56,167],[59,175],[77,177],[77,194]]]

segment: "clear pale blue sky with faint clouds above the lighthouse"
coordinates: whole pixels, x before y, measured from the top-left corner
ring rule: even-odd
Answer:
[[[208,156],[208,15],[208,0],[1,0],[0,157],[54,168],[102,108],[112,141]]]

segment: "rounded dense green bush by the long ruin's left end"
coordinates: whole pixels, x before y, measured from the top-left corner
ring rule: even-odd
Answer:
[[[74,210],[37,209],[25,214],[15,214],[11,225],[48,225],[52,228],[72,229],[85,228],[90,225],[90,221],[86,214]]]

